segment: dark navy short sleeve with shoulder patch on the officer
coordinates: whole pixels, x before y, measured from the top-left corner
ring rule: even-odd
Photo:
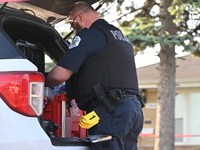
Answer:
[[[99,19],[89,29],[83,29],[76,35],[69,50],[58,62],[58,66],[77,73],[82,64],[89,62],[97,55],[107,44],[105,34],[100,29],[95,28],[102,23],[107,24],[104,19]]]

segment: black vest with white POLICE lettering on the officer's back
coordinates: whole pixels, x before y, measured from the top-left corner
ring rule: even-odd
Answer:
[[[132,45],[118,28],[110,24],[101,24],[97,28],[107,36],[107,45],[67,81],[67,93],[78,105],[84,99],[88,101],[95,97],[93,86],[99,82],[105,90],[138,90]]]

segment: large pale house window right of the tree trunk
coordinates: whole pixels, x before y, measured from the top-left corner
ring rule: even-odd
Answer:
[[[200,93],[178,94],[175,102],[176,144],[198,145],[200,141]],[[194,136],[193,136],[194,135]],[[195,136],[197,135],[197,136]]]

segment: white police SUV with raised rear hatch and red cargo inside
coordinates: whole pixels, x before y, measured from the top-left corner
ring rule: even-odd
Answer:
[[[53,26],[74,2],[0,1],[0,150],[90,149],[87,131],[78,126],[84,112],[62,87],[44,87],[45,56],[56,63],[68,50]]]

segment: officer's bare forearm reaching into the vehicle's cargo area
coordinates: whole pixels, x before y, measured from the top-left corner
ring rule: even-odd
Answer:
[[[64,81],[68,80],[71,75],[73,74],[73,71],[60,67],[55,66],[47,75],[45,80],[45,86],[46,87],[55,87]]]

